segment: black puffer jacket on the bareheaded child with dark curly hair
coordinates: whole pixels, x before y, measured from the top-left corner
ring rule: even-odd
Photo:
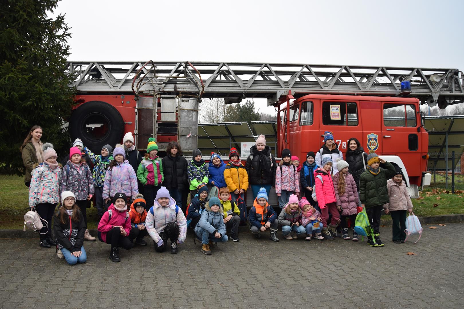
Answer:
[[[183,191],[187,188],[187,160],[184,157],[172,157],[168,154],[161,159],[161,163],[164,174],[163,185],[167,189],[177,188],[179,191]]]

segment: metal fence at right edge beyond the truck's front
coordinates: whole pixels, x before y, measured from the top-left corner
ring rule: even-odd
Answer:
[[[464,189],[464,170],[461,170],[461,158],[456,153],[432,152],[429,153],[428,171],[432,174],[432,187],[454,190]]]

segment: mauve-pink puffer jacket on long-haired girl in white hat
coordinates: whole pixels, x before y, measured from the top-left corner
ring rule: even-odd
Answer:
[[[340,180],[340,173],[336,173],[334,176],[334,189],[335,197],[337,199],[337,206],[342,206],[342,216],[348,216],[350,214],[357,214],[359,196],[358,189],[356,188],[356,182],[354,181],[351,174],[344,175],[345,177],[345,192],[340,195],[338,192],[338,182]]]

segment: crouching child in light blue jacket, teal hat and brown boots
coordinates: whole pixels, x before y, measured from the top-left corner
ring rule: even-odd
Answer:
[[[226,242],[226,225],[222,216],[219,198],[213,196],[205,205],[205,211],[201,213],[200,221],[195,227],[195,234],[201,240],[201,252],[211,255],[213,242]],[[214,241],[213,241],[214,240]]]

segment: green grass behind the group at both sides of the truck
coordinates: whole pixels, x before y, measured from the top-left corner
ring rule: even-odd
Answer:
[[[24,185],[24,177],[0,175],[0,183],[0,228],[22,229],[23,216],[29,209],[27,204],[29,192]],[[432,192],[432,190],[435,191]],[[415,215],[464,214],[462,192],[448,194],[444,192],[444,189],[428,188],[424,189],[420,196],[420,199],[412,199]],[[438,204],[438,206],[434,207],[433,204]],[[382,216],[382,219],[390,218],[390,215]],[[87,220],[89,228],[97,228],[97,208],[87,208]]]

